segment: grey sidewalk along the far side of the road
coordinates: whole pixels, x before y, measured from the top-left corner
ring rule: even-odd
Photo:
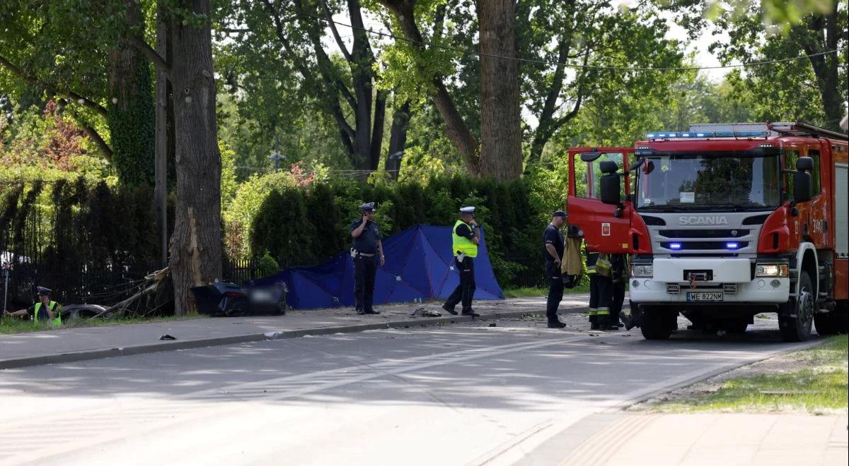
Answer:
[[[567,309],[581,312],[585,310],[588,299],[587,294],[566,295],[560,303],[560,313],[565,313]],[[275,317],[188,319],[2,335],[0,369],[305,335],[446,325],[472,320],[470,317],[448,314],[440,305],[441,301],[376,306],[380,315],[357,315],[353,308],[317,309],[290,311],[284,316]],[[442,317],[410,317],[410,313],[423,307],[439,311]],[[481,313],[479,319],[520,317],[525,313],[544,314],[545,297],[476,301],[475,310]],[[166,334],[177,340],[160,341],[160,336]]]

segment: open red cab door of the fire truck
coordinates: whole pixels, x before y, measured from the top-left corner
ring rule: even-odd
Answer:
[[[628,237],[632,205],[626,195],[631,192],[627,167],[633,160],[633,152],[633,147],[569,149],[569,225],[577,225],[582,230],[589,251],[621,254],[630,249]],[[585,160],[589,158],[595,159]],[[619,167],[616,173],[621,174],[621,207],[601,202],[600,180],[604,174],[599,165],[605,160],[616,162]],[[620,210],[619,214],[617,210]]]

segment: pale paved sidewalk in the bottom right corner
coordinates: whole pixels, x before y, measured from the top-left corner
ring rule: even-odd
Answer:
[[[593,466],[846,464],[844,414],[593,414],[514,463]]]

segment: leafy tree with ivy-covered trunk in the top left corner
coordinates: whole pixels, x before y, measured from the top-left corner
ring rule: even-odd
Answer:
[[[129,31],[143,34],[141,3],[8,0],[0,30],[0,69],[18,79],[20,103],[61,99],[123,182],[152,181],[149,62],[127,44]]]

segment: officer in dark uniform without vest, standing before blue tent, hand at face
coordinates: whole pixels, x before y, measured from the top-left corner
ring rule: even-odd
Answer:
[[[356,219],[351,224],[351,237],[354,238],[351,247],[351,258],[354,262],[354,300],[357,302],[357,313],[380,313],[372,308],[374,296],[374,276],[377,275],[378,264],[385,263],[383,243],[380,241],[380,228],[374,219],[374,202],[360,206],[363,218]]]

